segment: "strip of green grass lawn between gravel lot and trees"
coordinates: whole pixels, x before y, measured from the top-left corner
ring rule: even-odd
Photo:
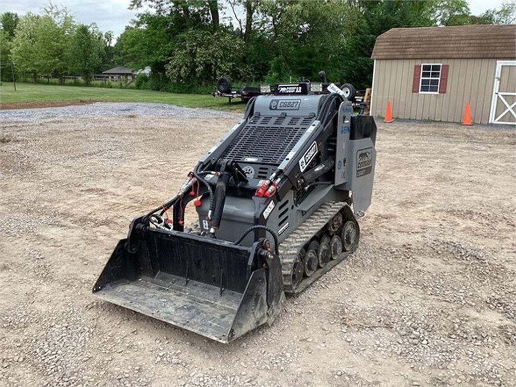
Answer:
[[[12,83],[3,82],[2,86],[0,86],[0,103],[69,100],[156,102],[220,110],[242,110],[246,106],[239,100],[234,100],[235,102],[230,105],[228,104],[227,98],[214,98],[209,94],[174,94],[151,90],[108,89],[101,87],[58,86],[30,83],[17,83],[16,91],[14,91]]]

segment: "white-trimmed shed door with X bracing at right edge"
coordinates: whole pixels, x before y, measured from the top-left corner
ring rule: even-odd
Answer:
[[[516,60],[496,61],[489,122],[516,125]]]

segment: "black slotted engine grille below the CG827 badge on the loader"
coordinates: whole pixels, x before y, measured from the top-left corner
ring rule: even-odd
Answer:
[[[222,155],[236,162],[280,165],[314,117],[253,116]]]

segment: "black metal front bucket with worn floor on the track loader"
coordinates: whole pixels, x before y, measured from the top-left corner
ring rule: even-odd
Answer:
[[[93,293],[229,343],[270,322],[284,297],[276,254],[179,231],[140,228],[119,241]],[[272,259],[271,259],[272,256]]]

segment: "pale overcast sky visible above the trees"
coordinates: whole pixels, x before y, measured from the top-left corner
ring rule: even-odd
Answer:
[[[101,31],[111,30],[118,36],[136,16],[128,9],[130,0],[53,0],[53,4],[66,6],[80,23],[96,23]],[[470,0],[471,12],[478,15],[489,8],[496,8],[502,0]],[[44,0],[0,0],[2,12],[11,11],[22,15],[39,13],[48,4]]]

